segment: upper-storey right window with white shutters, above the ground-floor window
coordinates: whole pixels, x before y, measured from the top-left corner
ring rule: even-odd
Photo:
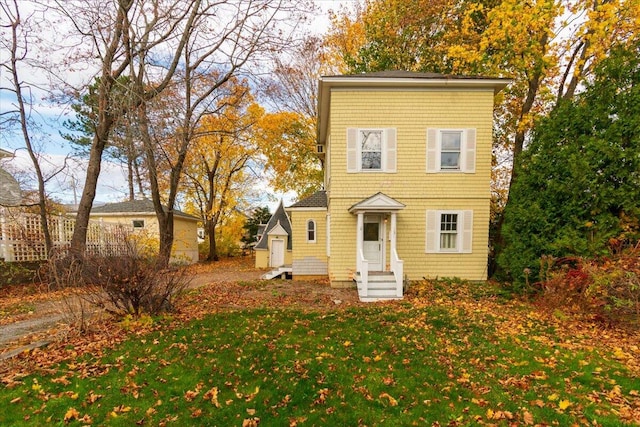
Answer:
[[[475,129],[427,129],[427,173],[475,171]]]

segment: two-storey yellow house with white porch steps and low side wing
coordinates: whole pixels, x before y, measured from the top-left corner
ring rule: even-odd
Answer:
[[[486,279],[494,96],[509,82],[322,77],[324,190],[286,209],[293,278],[355,283],[362,300],[422,277]]]

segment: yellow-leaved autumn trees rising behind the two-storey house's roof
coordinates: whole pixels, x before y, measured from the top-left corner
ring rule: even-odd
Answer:
[[[536,119],[573,97],[612,47],[637,34],[639,16],[637,0],[368,0],[355,14],[332,16],[325,46],[329,60],[347,72],[513,78],[495,109],[500,210]]]

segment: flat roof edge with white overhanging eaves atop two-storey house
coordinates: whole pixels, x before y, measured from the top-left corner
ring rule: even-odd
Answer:
[[[492,90],[496,94],[511,81],[511,79],[501,77],[458,76],[411,71],[379,71],[375,73],[322,76],[318,83],[318,144],[325,144],[327,139],[329,103],[332,90],[447,88],[484,89]]]

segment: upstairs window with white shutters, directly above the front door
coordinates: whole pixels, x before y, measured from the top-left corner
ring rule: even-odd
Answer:
[[[347,172],[395,171],[395,128],[347,129]]]

